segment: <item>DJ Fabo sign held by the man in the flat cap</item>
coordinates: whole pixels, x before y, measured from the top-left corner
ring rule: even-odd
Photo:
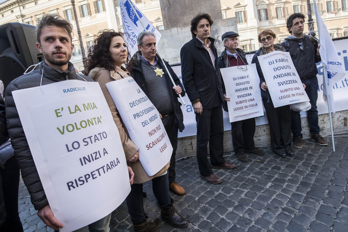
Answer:
[[[242,68],[240,68],[242,67]],[[230,122],[263,115],[260,79],[255,64],[220,69],[226,88]]]

